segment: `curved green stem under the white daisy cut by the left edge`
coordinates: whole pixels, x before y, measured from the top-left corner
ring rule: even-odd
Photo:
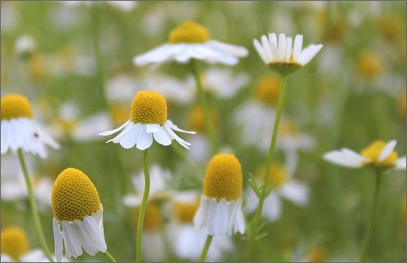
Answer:
[[[40,239],[41,247],[43,247],[43,251],[44,251],[45,255],[47,256],[47,259],[50,260],[50,262],[54,262],[54,259],[52,258],[52,255],[50,253],[50,249],[48,249],[47,242],[45,241],[43,228],[41,227],[38,210],[36,209],[34,191],[32,190],[30,176],[28,176],[27,167],[25,166],[23,152],[21,151],[21,149],[19,149],[19,150],[17,150],[17,153],[19,155],[21,170],[23,170],[25,184],[27,185],[28,200],[30,201],[32,220],[34,220],[34,229],[36,231],[36,235]]]

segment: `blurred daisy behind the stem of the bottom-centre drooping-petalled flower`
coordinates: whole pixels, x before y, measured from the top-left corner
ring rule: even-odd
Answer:
[[[173,240],[171,247],[181,259],[196,260],[201,255],[208,233],[206,229],[196,230],[193,225],[195,212],[199,207],[199,194],[194,191],[179,192],[171,204],[173,215],[168,238]],[[223,252],[233,248],[229,236],[215,236],[209,248],[206,262],[219,262]]]

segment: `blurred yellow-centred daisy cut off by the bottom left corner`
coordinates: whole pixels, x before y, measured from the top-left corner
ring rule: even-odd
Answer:
[[[30,250],[25,231],[20,227],[1,230],[1,262],[49,262],[41,249]]]

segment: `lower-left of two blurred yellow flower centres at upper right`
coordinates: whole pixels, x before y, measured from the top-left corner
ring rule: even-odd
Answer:
[[[373,78],[382,73],[382,60],[373,52],[361,52],[358,55],[357,68],[366,78]]]

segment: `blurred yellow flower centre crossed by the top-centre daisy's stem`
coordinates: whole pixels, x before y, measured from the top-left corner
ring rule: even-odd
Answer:
[[[219,129],[219,113],[215,108],[210,108],[210,119],[215,129]],[[188,124],[191,130],[197,133],[206,133],[205,115],[201,106],[193,106],[188,113]]]

